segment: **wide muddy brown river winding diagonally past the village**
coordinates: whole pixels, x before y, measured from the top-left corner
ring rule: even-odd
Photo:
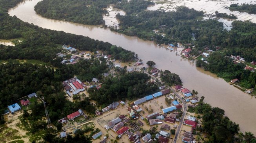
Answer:
[[[9,9],[11,16],[16,15],[23,21],[33,23],[40,27],[52,30],[89,36],[93,39],[107,41],[113,45],[122,46],[134,51],[138,57],[146,63],[152,60],[156,68],[170,70],[180,75],[183,87],[199,92],[199,96],[205,97],[205,102],[213,107],[225,110],[225,115],[240,125],[242,132],[251,131],[256,134],[256,99],[237,88],[229,85],[216,75],[196,68],[194,63],[176,56],[164,48],[156,46],[152,41],[144,41],[136,37],[125,36],[103,29],[98,26],[82,25],[59,20],[50,20],[39,16],[34,11],[34,5],[40,0],[26,0],[16,7]]]

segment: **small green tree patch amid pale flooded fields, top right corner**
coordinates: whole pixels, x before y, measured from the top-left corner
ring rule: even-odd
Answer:
[[[256,14],[256,4],[231,4],[229,10]]]

